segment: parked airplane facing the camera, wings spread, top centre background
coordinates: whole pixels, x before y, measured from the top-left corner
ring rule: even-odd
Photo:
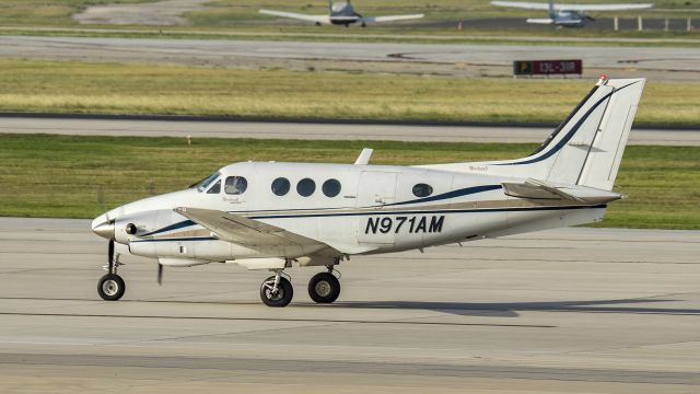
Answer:
[[[324,24],[337,24],[345,25],[346,27],[353,23],[360,23],[362,27],[365,27],[369,23],[395,22],[423,18],[423,14],[362,16],[354,11],[352,4],[350,4],[350,0],[336,3],[334,3],[332,0],[328,0],[328,14],[326,15],[308,15],[272,10],[260,10],[259,12],[266,15],[314,22],[319,26]]]

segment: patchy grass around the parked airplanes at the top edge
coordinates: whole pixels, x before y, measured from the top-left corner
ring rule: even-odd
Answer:
[[[54,34],[54,35],[100,35],[100,36],[152,36],[151,33],[128,33],[128,32],[83,32],[70,33],[54,31],[51,33],[35,30],[36,27],[77,27],[78,22],[71,19],[73,13],[80,12],[86,7],[105,3],[136,3],[152,2],[156,0],[3,0],[0,2],[0,34],[16,34],[18,31],[4,31],[3,27],[23,27],[23,34]],[[559,2],[576,2],[575,0],[562,0]],[[588,2],[609,2],[609,0],[590,0]],[[642,15],[646,19],[672,18],[685,20],[686,18],[700,18],[700,5],[696,1],[687,0],[657,0],[655,8],[651,10],[629,11],[629,12],[607,12],[593,13],[596,18],[620,18],[634,19]],[[523,34],[546,36],[546,37],[643,37],[643,38],[698,38],[698,32],[685,32],[685,25],[680,23],[673,27],[672,32],[663,32],[661,27],[635,32],[627,30],[614,32],[608,30],[593,28],[564,28],[556,30],[545,25],[525,25],[526,18],[545,18],[544,11],[529,11],[520,9],[499,8],[491,5],[488,0],[384,0],[381,2],[370,0],[355,0],[353,5],[365,15],[400,14],[400,13],[424,13],[425,18],[420,21],[398,24],[377,24],[370,28],[342,28],[338,26],[316,27],[302,21],[290,21],[275,19],[258,13],[260,8],[285,10],[292,12],[324,14],[327,12],[327,1],[325,0],[211,0],[206,3],[207,8],[194,11],[184,16],[189,21],[187,26],[166,28],[171,37],[195,37],[196,33],[221,33],[219,37],[228,37],[231,33],[264,33],[264,34],[317,34],[335,32],[346,36],[345,39],[365,39],[369,35],[386,35],[389,40],[397,40],[396,37],[388,38],[389,35],[499,35],[503,37],[517,37]],[[520,22],[517,26],[491,27],[481,25],[474,27],[469,21],[491,18],[516,18]],[[465,21],[465,30],[456,31],[458,21]],[[698,24],[696,22],[696,24]],[[682,25],[682,26],[680,26]],[[114,27],[112,25],[86,25],[89,27]],[[678,27],[680,26],[680,27]],[[142,26],[119,26],[119,30],[130,30]],[[649,27],[649,26],[648,26]],[[158,27],[160,32],[162,26]],[[229,36],[230,37],[230,36]],[[254,36],[236,36],[236,38],[254,38]],[[280,35],[279,39],[299,39]],[[304,39],[313,39],[305,37]],[[319,37],[318,39],[324,39]],[[373,40],[383,38],[373,37]],[[469,39],[466,37],[466,39]],[[504,38],[506,39],[506,38]],[[417,38],[400,38],[398,40],[417,40]],[[420,40],[420,39],[418,39]],[[458,42],[458,40],[456,40]],[[508,40],[506,40],[508,42]],[[629,45],[629,43],[625,44]],[[646,45],[669,45],[669,44],[646,44]],[[682,44],[677,44],[682,45]]]

